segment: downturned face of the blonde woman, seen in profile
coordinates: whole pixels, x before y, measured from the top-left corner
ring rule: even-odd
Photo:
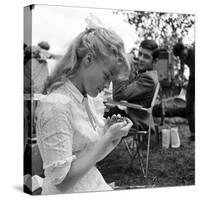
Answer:
[[[108,88],[110,82],[116,77],[117,70],[129,67],[126,57],[116,58],[109,56],[101,61],[91,61],[82,70],[83,88],[88,95],[96,97],[104,88]]]

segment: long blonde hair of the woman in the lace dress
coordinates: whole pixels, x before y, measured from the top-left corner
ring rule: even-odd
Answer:
[[[114,31],[103,27],[88,29],[80,33],[72,41],[66,54],[47,79],[44,93],[63,85],[69,76],[76,73],[82,58],[89,52],[96,60],[105,56],[121,55],[124,52],[124,43]]]

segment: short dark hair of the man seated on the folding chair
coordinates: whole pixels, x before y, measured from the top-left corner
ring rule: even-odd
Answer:
[[[140,44],[140,47],[153,51],[152,53],[153,60],[158,58],[160,50],[155,40],[143,40]]]

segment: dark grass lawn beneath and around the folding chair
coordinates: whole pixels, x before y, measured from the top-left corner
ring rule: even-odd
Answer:
[[[121,142],[104,160],[97,164],[108,183],[115,182],[121,188],[170,187],[195,184],[195,146],[189,143],[187,121],[181,118],[168,118],[165,127],[178,126],[181,146],[162,148],[162,142],[155,142],[152,136],[148,179],[140,170],[138,159],[130,165],[130,157]]]

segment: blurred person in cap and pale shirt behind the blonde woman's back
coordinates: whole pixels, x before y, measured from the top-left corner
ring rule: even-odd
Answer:
[[[60,59],[61,55],[49,52],[50,44],[41,41],[37,45],[28,46],[24,44],[24,149],[28,138],[35,137],[34,110],[37,106],[39,96],[44,89],[48,79],[49,66],[48,60]],[[35,95],[37,94],[37,95]],[[33,96],[34,95],[34,96]],[[37,96],[37,97],[36,97]],[[32,109],[32,110],[31,110]],[[31,127],[32,126],[32,127]],[[31,130],[32,129],[32,130]]]

